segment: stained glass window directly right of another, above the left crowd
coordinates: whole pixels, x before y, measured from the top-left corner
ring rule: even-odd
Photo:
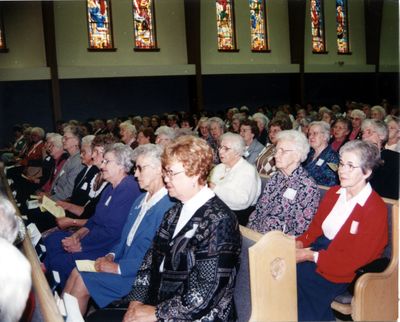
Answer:
[[[156,49],[154,0],[133,0],[135,49]]]

